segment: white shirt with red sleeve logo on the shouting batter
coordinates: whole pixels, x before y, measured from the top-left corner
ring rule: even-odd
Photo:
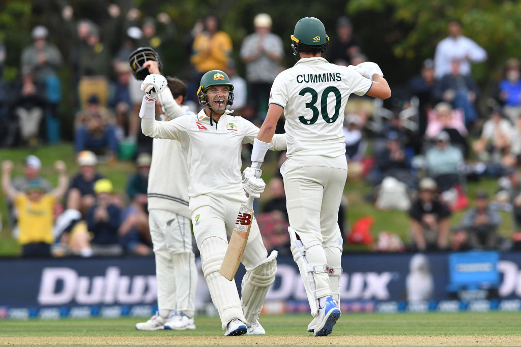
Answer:
[[[150,103],[143,98],[141,106],[145,112],[154,112]],[[204,110],[196,115],[184,115],[169,122],[158,122],[154,118],[143,118],[143,134],[155,138],[176,139],[187,149],[190,183],[188,196],[203,194],[244,197],[241,173],[242,144],[253,144],[259,128],[242,117],[226,111],[219,122],[210,125]],[[286,149],[286,135],[276,134],[270,149]],[[168,172],[164,173],[168,176]]]

